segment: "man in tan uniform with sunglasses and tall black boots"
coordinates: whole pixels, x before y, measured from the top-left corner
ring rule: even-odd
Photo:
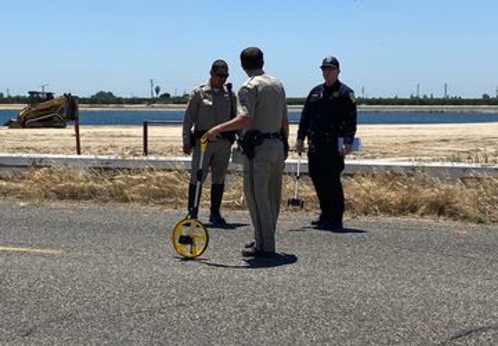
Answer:
[[[183,152],[192,155],[192,170],[188,191],[188,210],[193,212],[197,172],[200,160],[200,138],[213,126],[235,116],[235,96],[231,88],[225,86],[228,78],[228,65],[223,60],[213,62],[209,81],[194,89],[190,95],[183,119]],[[231,85],[230,85],[231,87]],[[193,128],[193,132],[192,132]],[[211,213],[209,221],[217,226],[225,226],[220,214],[220,206],[225,188],[225,175],[230,160],[233,134],[225,134],[220,141],[209,143],[204,153],[202,182],[208,168],[211,169]],[[199,196],[200,198],[200,196]],[[197,215],[190,215],[197,218]]]

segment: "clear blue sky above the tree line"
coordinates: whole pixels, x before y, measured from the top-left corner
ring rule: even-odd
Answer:
[[[0,0],[0,92],[182,94],[217,58],[236,88],[259,46],[288,96],[322,81],[326,55],[358,96],[496,95],[497,0]]]

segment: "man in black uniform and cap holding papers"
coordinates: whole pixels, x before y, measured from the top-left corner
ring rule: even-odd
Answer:
[[[299,155],[308,138],[308,170],[320,202],[321,214],[312,224],[317,228],[342,230],[344,192],[341,172],[344,157],[351,153],[356,133],[355,94],[341,83],[339,61],[328,56],[320,66],[325,83],[314,87],[306,99],[296,151]],[[339,143],[343,138],[343,144]],[[341,148],[339,148],[341,145]]]

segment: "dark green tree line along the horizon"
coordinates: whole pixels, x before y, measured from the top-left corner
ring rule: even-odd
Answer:
[[[81,104],[116,104],[116,105],[150,105],[150,104],[185,104],[187,103],[189,94],[181,96],[171,96],[169,93],[162,93],[157,97],[121,97],[114,95],[111,91],[99,91],[90,97],[79,97]],[[305,97],[288,97],[287,105],[303,105],[306,101]],[[27,96],[7,95],[0,93],[0,104],[25,104],[28,103]],[[375,98],[357,98],[357,104],[360,105],[397,105],[397,106],[431,106],[431,105],[498,105],[498,97],[491,97],[488,94],[483,94],[481,98],[462,98],[462,97],[446,97],[438,98],[423,95],[422,97],[411,96],[409,98],[400,97],[375,97]]]

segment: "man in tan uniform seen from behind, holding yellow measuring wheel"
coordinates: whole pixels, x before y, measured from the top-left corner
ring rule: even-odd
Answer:
[[[245,257],[268,257],[275,253],[285,161],[283,141],[289,134],[283,86],[278,79],[264,73],[263,63],[259,48],[242,51],[241,64],[249,79],[239,91],[237,117],[207,133],[208,139],[215,140],[225,131],[244,129],[243,141],[249,142],[248,150],[243,148],[244,193],[255,241],[246,245],[242,252]]]

